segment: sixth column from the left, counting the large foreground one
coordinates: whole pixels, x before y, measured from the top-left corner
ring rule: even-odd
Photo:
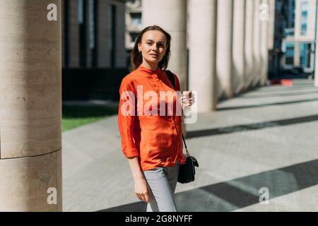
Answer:
[[[254,69],[254,0],[246,0],[245,3],[245,89],[252,83]]]

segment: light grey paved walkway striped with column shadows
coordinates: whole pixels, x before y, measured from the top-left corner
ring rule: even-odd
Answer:
[[[177,184],[179,211],[318,211],[318,89],[294,83],[225,100],[187,125],[200,167],[195,182]],[[62,153],[64,211],[145,210],[117,116],[63,133]],[[259,203],[261,188],[268,204]]]

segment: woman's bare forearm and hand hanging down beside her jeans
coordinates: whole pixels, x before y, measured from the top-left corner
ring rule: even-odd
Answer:
[[[149,203],[149,190],[146,179],[143,177],[141,168],[138,162],[138,157],[128,157],[129,167],[134,177],[135,193],[141,201]]]

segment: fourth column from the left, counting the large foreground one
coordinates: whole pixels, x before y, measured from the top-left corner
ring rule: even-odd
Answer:
[[[233,96],[232,85],[232,16],[233,1],[218,0],[216,33],[216,74],[225,97]]]

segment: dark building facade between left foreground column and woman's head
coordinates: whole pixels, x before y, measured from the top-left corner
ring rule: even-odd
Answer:
[[[63,68],[126,66],[123,0],[62,0]]]

